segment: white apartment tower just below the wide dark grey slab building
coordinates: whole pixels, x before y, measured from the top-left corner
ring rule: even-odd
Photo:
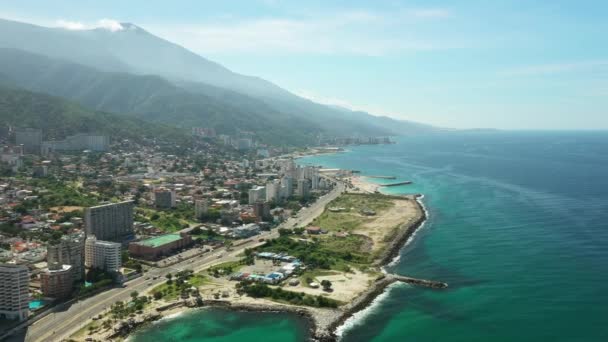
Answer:
[[[122,266],[121,251],[120,243],[101,241],[95,236],[88,236],[84,247],[84,264],[88,268],[118,272]]]

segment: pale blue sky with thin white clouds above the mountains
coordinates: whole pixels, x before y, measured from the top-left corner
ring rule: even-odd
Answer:
[[[317,102],[441,127],[608,129],[605,0],[0,0],[0,18],[131,22]]]

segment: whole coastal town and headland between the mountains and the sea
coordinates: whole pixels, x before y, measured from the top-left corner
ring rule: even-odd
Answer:
[[[115,340],[207,305],[344,311],[378,279],[396,281],[379,268],[385,251],[424,219],[415,197],[296,163],[333,145],[289,151],[209,129],[180,149],[42,137],[3,135],[3,338]]]

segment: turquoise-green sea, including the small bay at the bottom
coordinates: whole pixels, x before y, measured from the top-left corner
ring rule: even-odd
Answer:
[[[391,287],[342,341],[608,341],[608,132],[401,137],[299,161],[397,176],[429,219],[387,271],[449,283]],[[394,182],[374,179],[374,182]],[[134,341],[305,341],[285,314],[218,309]]]

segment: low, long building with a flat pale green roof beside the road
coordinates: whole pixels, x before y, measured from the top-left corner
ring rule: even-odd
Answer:
[[[151,239],[131,242],[129,253],[147,260],[155,260],[163,255],[169,255],[177,250],[192,244],[192,237],[188,234],[166,234]]]

